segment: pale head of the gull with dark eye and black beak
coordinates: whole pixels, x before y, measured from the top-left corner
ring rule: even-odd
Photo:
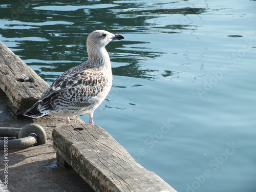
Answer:
[[[109,44],[112,40],[124,39],[121,34],[113,34],[104,30],[93,31],[87,37],[87,48],[95,47],[102,48]]]

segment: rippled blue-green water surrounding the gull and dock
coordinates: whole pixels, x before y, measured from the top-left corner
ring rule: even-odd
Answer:
[[[255,1],[1,2],[0,40],[48,83],[90,32],[124,35],[94,122],[142,166],[178,191],[256,191]]]

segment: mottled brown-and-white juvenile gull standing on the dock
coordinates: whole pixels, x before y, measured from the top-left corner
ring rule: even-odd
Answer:
[[[87,38],[88,60],[69,69],[42,94],[23,115],[38,118],[54,115],[66,118],[86,114],[93,124],[93,112],[108,95],[112,86],[111,62],[105,46],[123,35],[97,30]]]

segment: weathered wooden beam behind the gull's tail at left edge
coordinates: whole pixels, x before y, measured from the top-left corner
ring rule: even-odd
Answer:
[[[30,108],[49,87],[25,62],[0,42],[0,88],[16,110]]]

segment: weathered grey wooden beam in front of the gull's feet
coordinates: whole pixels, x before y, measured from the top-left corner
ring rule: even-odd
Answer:
[[[74,129],[83,129],[75,131]],[[100,126],[59,125],[53,147],[95,191],[176,191],[146,170]]]

